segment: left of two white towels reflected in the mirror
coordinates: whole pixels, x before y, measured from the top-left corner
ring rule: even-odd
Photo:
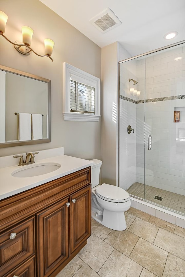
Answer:
[[[31,139],[31,113],[19,113],[18,140],[30,141]]]

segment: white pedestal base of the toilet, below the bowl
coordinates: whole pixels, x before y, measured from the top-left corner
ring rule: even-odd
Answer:
[[[92,218],[107,228],[116,231],[124,231],[127,229],[124,212],[111,212],[103,209],[103,215],[96,216],[96,214],[92,209]]]

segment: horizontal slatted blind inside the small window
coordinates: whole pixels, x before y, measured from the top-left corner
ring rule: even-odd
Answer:
[[[95,88],[70,80],[70,112],[95,114]]]

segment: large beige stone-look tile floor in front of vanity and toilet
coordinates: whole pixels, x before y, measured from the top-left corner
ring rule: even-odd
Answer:
[[[185,229],[134,208],[127,230],[92,220],[86,246],[56,277],[184,277]]]

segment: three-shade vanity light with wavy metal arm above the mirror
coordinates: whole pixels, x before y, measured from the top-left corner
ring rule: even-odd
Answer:
[[[53,51],[53,46],[54,46],[54,41],[50,40],[48,38],[46,38],[44,40],[44,45],[45,45],[45,55],[39,55],[37,54],[31,47],[31,42],[32,42],[32,35],[34,33],[34,31],[32,30],[32,28],[27,27],[27,26],[23,26],[22,29],[22,35],[23,35],[23,42],[18,42],[16,41],[15,43],[10,41],[5,35],[5,26],[6,26],[6,22],[8,20],[8,16],[7,14],[5,14],[4,12],[0,11],[0,35],[2,35],[6,40],[8,40],[8,42],[10,42],[11,44],[14,45],[14,48],[21,54],[23,55],[30,55],[32,52],[34,54],[36,54],[39,57],[49,57],[51,59],[51,61],[53,61],[53,59],[51,58],[51,54]]]

